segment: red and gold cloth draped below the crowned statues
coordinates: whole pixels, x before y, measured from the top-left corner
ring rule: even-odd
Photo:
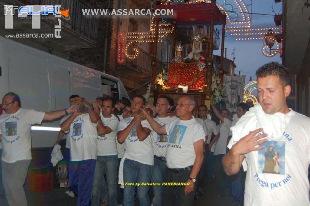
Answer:
[[[199,63],[170,63],[165,87],[177,89],[188,85],[188,90],[201,89],[206,85],[206,65]]]

